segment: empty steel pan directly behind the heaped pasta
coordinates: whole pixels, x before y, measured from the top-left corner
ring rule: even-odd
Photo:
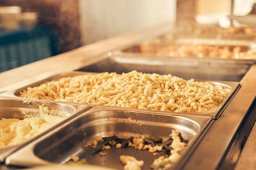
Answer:
[[[223,60],[180,58],[155,55],[109,52],[104,59],[77,71],[172,74],[186,80],[240,81],[250,69],[253,60]]]

